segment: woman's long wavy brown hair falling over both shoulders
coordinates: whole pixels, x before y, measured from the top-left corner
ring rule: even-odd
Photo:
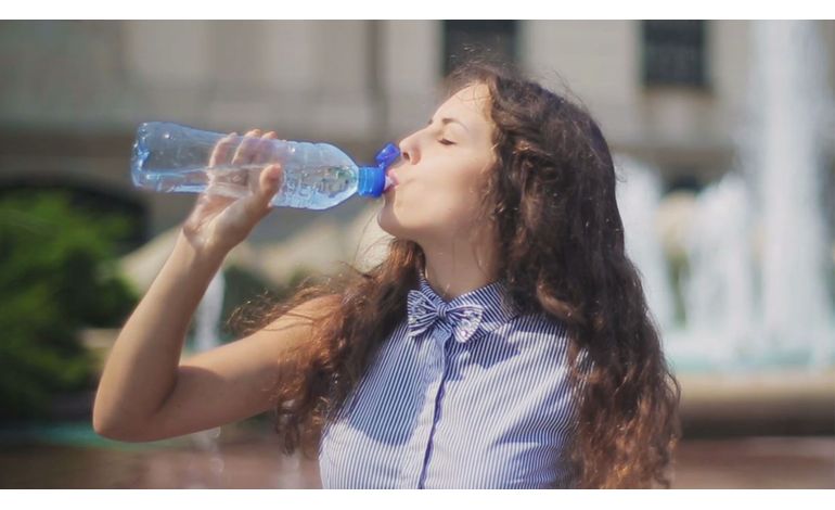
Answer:
[[[569,460],[577,488],[669,488],[681,436],[681,387],[669,370],[640,273],[625,253],[616,171],[600,127],[569,101],[508,65],[472,62],[442,85],[489,89],[497,156],[481,204],[498,227],[499,277],[522,313],[548,314],[568,330],[578,393]],[[370,270],[305,280],[290,298],[233,315],[264,328],[318,298],[305,316],[312,337],[282,360],[274,394],[283,450],[313,458],[325,420],[337,413],[382,343],[407,314],[407,293],[425,259],[413,241],[391,239]],[[240,311],[240,310],[239,310]],[[582,352],[583,356],[578,356]],[[583,362],[590,359],[590,364]]]

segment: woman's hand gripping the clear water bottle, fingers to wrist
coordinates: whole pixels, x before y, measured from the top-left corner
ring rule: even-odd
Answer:
[[[209,173],[208,188],[198,195],[182,226],[182,233],[195,252],[224,257],[270,213],[270,200],[283,180],[281,166],[267,163],[270,140],[277,138],[273,131],[261,135],[259,129],[253,129],[244,137],[230,133],[215,145],[209,168],[231,164],[252,169],[246,174]],[[228,196],[235,189],[234,194],[243,196]]]

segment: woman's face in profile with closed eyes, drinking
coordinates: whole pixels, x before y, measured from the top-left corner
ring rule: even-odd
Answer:
[[[496,163],[489,91],[476,84],[441,104],[423,129],[400,142],[381,228],[399,239],[436,243],[472,232],[487,173]],[[454,120],[448,120],[454,119]]]

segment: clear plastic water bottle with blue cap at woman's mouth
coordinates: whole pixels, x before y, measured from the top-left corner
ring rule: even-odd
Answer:
[[[202,131],[171,123],[144,123],[137,129],[130,162],[133,184],[158,192],[218,193],[241,197],[252,193],[258,176],[270,164],[280,163],[282,186],[272,206],[308,209],[333,207],[354,194],[377,197],[393,184],[386,169],[400,155],[388,143],[376,155],[375,166],[358,166],[329,143],[246,139],[257,143],[253,162],[232,165],[210,157],[228,135]],[[229,140],[231,151],[245,140]],[[231,160],[231,154],[227,160]]]

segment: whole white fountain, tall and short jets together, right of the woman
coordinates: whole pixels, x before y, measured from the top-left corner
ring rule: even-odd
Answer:
[[[657,175],[616,157],[627,251],[639,267],[673,369],[806,373],[835,367],[833,260],[822,205],[832,89],[817,22],[752,22],[747,115],[737,166],[693,196],[681,250],[684,320],[659,262]],[[661,205],[664,205],[661,201]]]

